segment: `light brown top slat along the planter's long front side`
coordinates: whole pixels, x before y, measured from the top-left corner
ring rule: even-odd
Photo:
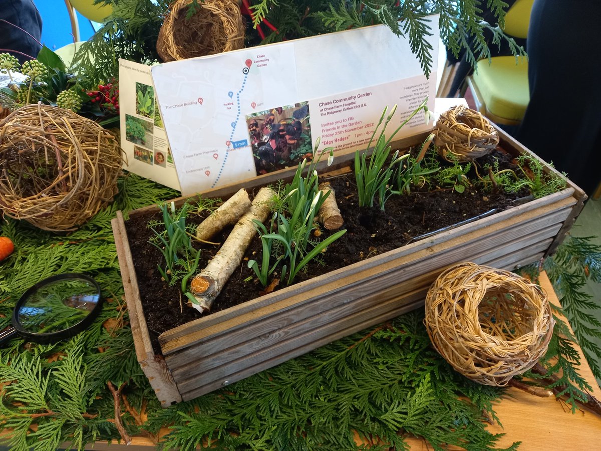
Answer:
[[[559,205],[545,206],[542,207],[542,209],[536,210],[534,212],[526,212],[523,215],[520,215],[519,218],[511,218],[508,224],[503,223],[498,227],[489,227],[487,229],[474,230],[471,232],[471,235],[463,237],[465,239],[447,239],[447,241],[442,241],[442,243],[438,244],[434,243],[434,241],[436,241],[435,237],[433,237],[432,239],[424,240],[425,243],[421,246],[423,249],[419,251],[414,251],[409,255],[402,255],[402,253],[398,253],[401,255],[398,256],[396,259],[388,262],[383,262],[380,265],[370,265],[369,267],[367,267],[368,265],[362,265],[363,263],[368,263],[370,260],[377,259],[377,257],[373,257],[372,259],[367,260],[366,262],[356,263],[356,265],[362,265],[362,267],[364,268],[363,271],[359,273],[359,277],[355,277],[355,272],[344,271],[344,269],[350,268],[350,266],[347,266],[346,268],[342,268],[341,270],[335,271],[339,273],[335,276],[332,275],[332,273],[329,273],[325,276],[316,277],[302,284],[297,284],[293,287],[289,287],[288,289],[281,290],[287,291],[287,295],[278,296],[277,302],[266,302],[263,305],[255,305],[255,308],[252,308],[249,311],[242,311],[239,312],[239,314],[237,315],[233,315],[228,318],[222,318],[222,321],[218,322],[217,324],[215,324],[215,322],[207,321],[207,325],[205,327],[197,327],[194,330],[192,330],[191,328],[187,328],[187,333],[183,335],[180,334],[180,331],[178,330],[179,328],[174,328],[171,331],[163,333],[160,336],[163,355],[165,355],[166,358],[169,358],[169,355],[172,354],[172,352],[179,351],[185,348],[186,346],[191,346],[196,342],[201,342],[203,337],[209,337],[213,334],[227,333],[227,335],[231,337],[231,334],[237,327],[246,328],[249,324],[252,324],[252,322],[254,321],[262,321],[263,319],[267,318],[269,314],[274,311],[278,313],[285,313],[288,307],[295,306],[298,302],[310,302],[312,296],[319,296],[321,293],[323,293],[323,289],[326,286],[328,286],[328,296],[332,296],[335,294],[336,290],[344,289],[345,287],[350,286],[353,282],[361,284],[362,280],[364,280],[365,278],[382,277],[383,275],[385,275],[386,271],[394,271],[395,268],[398,268],[398,266],[400,265],[404,265],[409,262],[417,263],[419,262],[419,260],[429,259],[433,252],[443,253],[444,251],[456,249],[458,253],[463,254],[463,252],[465,251],[465,246],[469,242],[472,242],[477,247],[486,247],[487,242],[483,240],[487,237],[490,237],[490,245],[492,245],[493,247],[504,245],[508,240],[519,238],[519,236],[521,236],[522,234],[534,233],[537,232],[539,229],[544,228],[548,224],[556,224],[558,222],[561,222],[569,213],[569,207],[572,204],[572,201],[570,199],[564,199],[560,201],[560,204],[563,205],[562,210],[557,210]],[[545,218],[546,215],[551,216]],[[523,225],[525,229],[517,227],[517,225],[521,222],[525,223]],[[520,227],[522,226],[520,225]],[[499,230],[505,231],[502,234],[500,234]],[[395,251],[391,252],[394,253]],[[444,258],[446,257],[442,256],[441,254],[437,257],[437,260]],[[451,255],[448,258],[454,259],[456,257],[454,255]],[[406,280],[406,278],[408,277],[410,276],[407,275],[407,277],[403,277],[403,280]],[[308,290],[308,287],[314,288],[313,290]],[[273,294],[276,295],[277,293],[278,292]],[[215,316],[215,314],[210,315],[206,319],[210,320],[212,316]],[[195,323],[201,323],[202,320],[203,319],[197,320],[195,321]]]

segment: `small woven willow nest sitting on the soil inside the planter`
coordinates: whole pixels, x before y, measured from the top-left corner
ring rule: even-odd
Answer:
[[[499,144],[499,133],[480,112],[457,105],[441,114],[434,144],[442,158],[466,162],[484,156]]]

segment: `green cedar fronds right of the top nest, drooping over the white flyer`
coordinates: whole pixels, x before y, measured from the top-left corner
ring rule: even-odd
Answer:
[[[514,55],[525,55],[524,49],[502,31],[507,4],[502,0],[487,1],[496,23],[483,20],[480,4],[480,0],[404,0],[398,5],[392,0],[260,0],[252,9],[255,27],[266,18],[278,29],[261,43],[383,23],[394,34],[409,38],[411,51],[429,76],[433,64],[432,46],[427,41],[432,34],[427,19],[430,14],[439,14],[438,26],[445,46],[456,57],[465,50],[466,61],[472,66],[481,58],[490,58],[489,45],[500,46],[502,41]],[[490,31],[492,38],[487,38],[485,31]]]

